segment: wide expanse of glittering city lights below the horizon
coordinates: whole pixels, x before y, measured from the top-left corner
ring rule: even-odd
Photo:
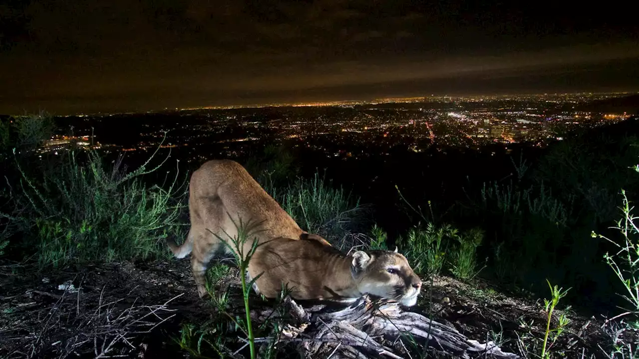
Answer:
[[[210,157],[247,156],[267,144],[305,149],[326,158],[367,158],[399,150],[438,148],[480,150],[484,146],[544,147],[578,128],[619,123],[630,117],[608,111],[610,94],[523,95],[379,99],[305,109],[288,106],[231,109],[181,109],[134,114],[68,116],[44,152],[81,146],[117,153],[148,153],[172,148],[188,162]],[[393,103],[389,103],[389,100]],[[448,101],[452,100],[452,101]],[[604,100],[603,102],[601,100]],[[352,104],[358,103],[358,106]],[[429,103],[433,103],[429,106]],[[594,106],[584,111],[575,104]],[[603,106],[601,106],[603,104]],[[71,126],[73,129],[71,130]],[[122,128],[128,126],[128,131]],[[96,136],[96,137],[94,137]],[[165,137],[166,136],[166,137]],[[93,139],[97,141],[93,142]]]

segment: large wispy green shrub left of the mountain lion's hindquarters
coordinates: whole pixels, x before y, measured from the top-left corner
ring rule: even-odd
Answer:
[[[28,172],[16,158],[22,249],[36,248],[42,265],[166,256],[164,239],[181,229],[186,182],[176,174],[166,189],[146,185],[141,176],[160,167],[147,170],[151,158],[128,173],[120,160],[106,169],[95,151],[68,151]]]

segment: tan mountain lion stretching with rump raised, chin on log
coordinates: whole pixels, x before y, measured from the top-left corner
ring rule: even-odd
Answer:
[[[231,244],[229,239],[238,235],[240,218],[243,223],[259,224],[242,250],[248,253],[256,238],[259,247],[249,262],[248,274],[255,278],[262,273],[254,289],[267,298],[275,298],[282,284],[292,288],[291,296],[296,299],[351,300],[369,293],[414,305],[419,294],[421,280],[404,256],[392,251],[344,255],[321,236],[302,231],[237,162],[212,160],[193,172],[189,213],[187,240],[181,246],[169,241],[169,247],[178,258],[191,254],[201,297],[206,294],[208,262],[229,251],[217,236]],[[389,273],[389,267],[397,273]]]

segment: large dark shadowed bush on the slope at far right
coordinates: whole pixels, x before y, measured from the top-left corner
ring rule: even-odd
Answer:
[[[614,278],[600,260],[609,248],[589,234],[612,223],[615,186],[636,193],[627,167],[639,156],[637,141],[601,134],[562,141],[532,171],[513,161],[515,179],[484,183],[464,220],[489,234],[491,252],[481,254],[495,276],[537,294],[550,279],[573,287],[568,295],[581,303],[609,305]]]

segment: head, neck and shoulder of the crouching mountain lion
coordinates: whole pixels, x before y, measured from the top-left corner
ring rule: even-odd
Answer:
[[[422,286],[406,257],[390,250],[347,256],[319,241],[277,238],[259,246],[251,262],[249,278],[261,274],[254,289],[267,298],[277,297],[286,285],[299,300],[351,302],[372,294],[411,306]]]

